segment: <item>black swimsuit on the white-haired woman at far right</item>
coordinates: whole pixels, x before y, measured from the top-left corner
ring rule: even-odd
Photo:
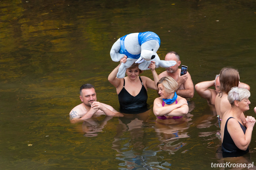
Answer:
[[[228,120],[230,118],[233,117],[229,117]],[[235,119],[235,118],[233,118]],[[224,128],[224,136],[223,136],[223,142],[222,142],[222,151],[224,152],[242,152],[242,153],[246,153],[249,151],[249,149],[247,148],[247,150],[241,150],[239,149],[236,144],[234,143],[233,139],[231,138],[230,134],[228,133],[228,120],[225,124],[225,128]],[[246,127],[244,127],[240,122],[238,122],[240,124],[241,129],[243,130],[244,134],[246,131]]]

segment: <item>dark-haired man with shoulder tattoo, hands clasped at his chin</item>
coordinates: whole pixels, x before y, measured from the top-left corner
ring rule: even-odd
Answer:
[[[107,116],[123,116],[112,106],[97,101],[94,86],[84,84],[80,88],[80,99],[83,103],[77,105],[69,113],[70,123],[82,122],[93,115],[106,114]]]

